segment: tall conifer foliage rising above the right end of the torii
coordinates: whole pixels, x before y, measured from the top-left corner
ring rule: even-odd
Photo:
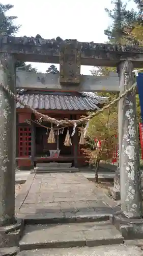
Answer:
[[[140,1],[135,1],[137,2]],[[135,28],[135,24],[142,23],[142,17],[140,10],[138,12],[133,9],[127,10],[127,4],[123,4],[123,1],[118,0],[112,2],[115,7],[113,10],[105,9],[108,16],[112,19],[112,25],[105,31],[105,35],[108,36],[108,40],[111,44],[132,45],[138,44],[137,38],[132,35],[132,31]],[[138,3],[138,6],[141,7]]]

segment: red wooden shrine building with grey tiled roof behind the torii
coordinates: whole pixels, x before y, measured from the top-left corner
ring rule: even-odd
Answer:
[[[54,74],[53,74],[54,75]],[[101,108],[106,98],[91,92],[47,91],[44,89],[18,90],[20,100],[39,113],[55,119],[77,120],[86,116],[89,111]],[[35,116],[30,109],[17,103],[17,146],[16,162],[18,168],[33,169],[37,163],[70,162],[79,167],[87,164],[87,159],[79,145],[78,132],[72,136],[73,126],[59,126]],[[49,143],[51,131],[54,133],[54,143]],[[66,146],[65,138],[69,132],[71,143]]]

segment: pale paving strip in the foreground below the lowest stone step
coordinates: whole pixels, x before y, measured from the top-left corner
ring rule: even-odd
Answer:
[[[137,246],[108,245],[98,247],[40,249],[21,251],[18,256],[142,256]]]

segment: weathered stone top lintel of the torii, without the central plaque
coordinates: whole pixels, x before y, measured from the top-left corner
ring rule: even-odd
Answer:
[[[142,67],[143,47],[78,42],[74,39],[43,39],[36,37],[0,36],[0,51],[9,52],[18,60],[60,63],[61,45],[72,44],[71,52],[79,52],[80,64],[87,66],[116,67],[122,60],[132,60],[135,68]],[[68,49],[67,49],[68,50]]]

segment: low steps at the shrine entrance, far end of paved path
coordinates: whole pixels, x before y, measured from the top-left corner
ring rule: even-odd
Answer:
[[[72,163],[37,163],[31,173],[75,173],[79,172],[78,168],[71,167]]]

